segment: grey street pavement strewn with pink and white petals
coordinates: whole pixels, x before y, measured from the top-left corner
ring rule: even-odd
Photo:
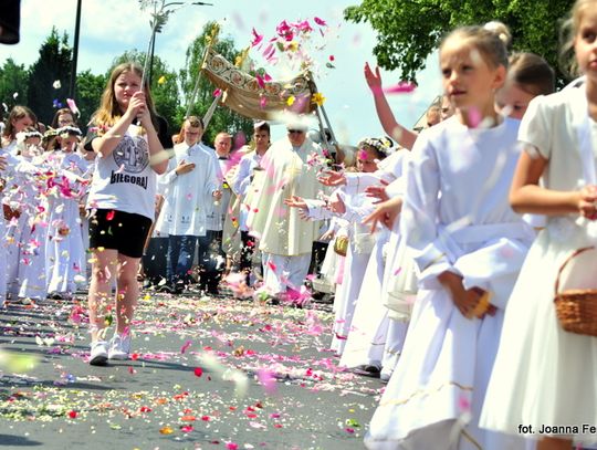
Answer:
[[[329,305],[146,293],[132,360],[92,367],[78,302],[0,310],[0,447],[363,448],[384,385],[337,367]]]

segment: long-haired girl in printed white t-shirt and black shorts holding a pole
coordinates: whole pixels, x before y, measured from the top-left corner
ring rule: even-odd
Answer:
[[[94,115],[95,128],[87,137],[87,149],[97,154],[87,200],[93,253],[91,365],[104,365],[108,358],[127,359],[130,353],[129,326],[138,297],[139,260],[154,220],[156,175],[168,166],[149,86],[142,86],[142,81],[143,69],[135,63],[113,70]],[[116,333],[108,345],[106,304],[113,278],[117,286]]]

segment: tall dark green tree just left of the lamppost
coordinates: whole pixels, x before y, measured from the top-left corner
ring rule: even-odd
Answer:
[[[72,49],[66,33],[59,36],[55,28],[40,48],[40,57],[29,70],[27,105],[38,118],[49,124],[56,108],[66,106],[71,80]]]

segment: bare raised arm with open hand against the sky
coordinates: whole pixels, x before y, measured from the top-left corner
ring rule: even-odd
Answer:
[[[391,109],[388,104],[388,100],[384,94],[381,87],[381,75],[379,73],[379,67],[375,67],[375,73],[371,71],[369,63],[365,63],[365,80],[367,85],[371,90],[375,101],[375,108],[377,111],[377,117],[384,127],[384,130],[391,136],[400,146],[412,149],[415,140],[417,140],[417,133],[405,128],[398,122],[391,113]]]

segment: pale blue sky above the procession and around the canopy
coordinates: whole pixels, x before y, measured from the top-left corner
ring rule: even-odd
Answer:
[[[364,136],[379,136],[381,126],[377,121],[371,95],[363,77],[366,61],[375,64],[373,48],[375,33],[366,23],[354,24],[343,20],[343,10],[358,0],[209,0],[211,7],[186,7],[168,20],[156,41],[158,54],[171,70],[185,64],[185,52],[201,32],[208,20],[221,24],[221,33],[230,35],[237,46],[251,42],[251,30],[272,36],[282,20],[324,19],[334,30],[329,32],[323,49],[312,53],[325,64],[334,55],[336,69],[324,70],[316,80],[326,97],[324,104],[338,140],[355,144]],[[76,0],[22,0],[21,42],[0,45],[0,62],[12,57],[19,64],[33,63],[39,48],[49,35],[52,25],[62,34],[74,34]],[[126,50],[145,51],[149,40],[148,13],[142,12],[136,0],[84,0],[80,36],[77,70],[104,73],[114,57]],[[334,38],[333,38],[334,36]],[[255,54],[252,54],[256,56]],[[258,57],[255,57],[258,59]],[[259,61],[259,60],[258,60]],[[280,67],[268,67],[274,76],[283,77]],[[400,81],[398,72],[383,72],[384,84]],[[437,60],[430,56],[428,69],[419,76],[419,88],[413,94],[392,95],[390,105],[398,121],[411,126],[426,106],[441,92]],[[281,135],[274,127],[273,137]]]

